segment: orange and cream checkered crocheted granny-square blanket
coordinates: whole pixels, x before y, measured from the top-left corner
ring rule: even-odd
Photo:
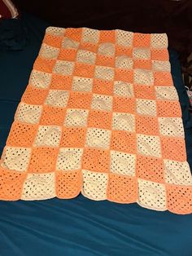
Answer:
[[[49,27],[0,162],[0,199],[192,212],[166,34]]]

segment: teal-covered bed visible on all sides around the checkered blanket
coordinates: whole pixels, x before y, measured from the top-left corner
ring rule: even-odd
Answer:
[[[28,83],[45,29],[24,14],[26,42],[20,51],[0,52],[0,154]],[[192,167],[192,118],[176,51],[169,49],[180,98],[188,161]],[[136,204],[72,200],[0,201],[0,255],[174,255],[192,254],[192,216],[156,212]]]

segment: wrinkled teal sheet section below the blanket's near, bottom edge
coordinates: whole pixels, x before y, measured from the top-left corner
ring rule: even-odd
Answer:
[[[0,202],[1,256],[191,256],[192,216],[72,200]]]

